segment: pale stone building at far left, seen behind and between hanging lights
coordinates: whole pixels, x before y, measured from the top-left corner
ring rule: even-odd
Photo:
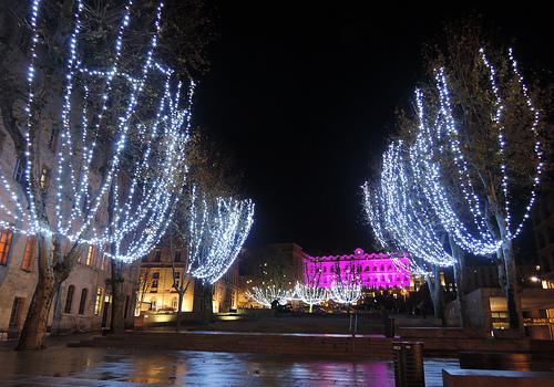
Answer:
[[[0,6],[0,48],[2,54],[6,54],[2,56],[0,66],[0,70],[4,71],[0,87],[3,97],[2,119],[0,119],[0,176],[2,180],[0,182],[0,338],[19,335],[38,282],[37,239],[18,232],[17,230],[22,228],[21,221],[13,216],[13,213],[18,213],[17,201],[22,203],[19,211],[24,211],[27,207],[23,194],[25,168],[17,156],[12,136],[6,126],[9,123],[10,127],[23,134],[27,122],[25,98],[21,96],[29,88],[27,70],[31,55],[30,31],[24,23],[10,13],[9,6],[16,3],[16,1],[11,1],[10,4],[6,2]],[[37,51],[40,50],[40,48],[37,49]],[[38,52],[38,55],[40,54],[41,52]],[[55,81],[52,80],[52,82]],[[18,100],[18,97],[20,98]],[[10,103],[7,102],[8,100]],[[54,222],[55,217],[52,208],[58,192],[53,189],[54,181],[50,180],[51,178],[53,180],[54,159],[61,147],[60,112],[63,101],[61,93],[55,92],[55,90],[45,97],[45,101],[38,124],[40,127],[41,163],[38,168],[41,174],[40,188],[45,210],[50,221]],[[11,104],[11,102],[13,103]],[[13,119],[10,121],[10,118]],[[95,181],[91,181],[91,188],[98,187]],[[7,186],[11,187],[16,194],[10,194]],[[75,206],[68,192],[61,192],[61,195],[63,196],[62,206]],[[105,216],[105,210],[99,211],[96,220],[103,221],[103,216]],[[66,240],[54,239],[52,254],[63,254],[68,250]],[[137,264],[124,265],[123,272],[125,320],[127,324],[133,324],[132,311],[136,296]],[[50,311],[48,330],[58,333],[96,331],[102,326],[109,326],[112,304],[110,279],[109,260],[102,251],[89,248],[69,278],[60,285]]]

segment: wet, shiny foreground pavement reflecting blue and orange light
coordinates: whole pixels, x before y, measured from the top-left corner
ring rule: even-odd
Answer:
[[[2,343],[0,386],[394,386],[391,359],[66,347],[85,338],[72,336],[38,352]],[[443,368],[459,360],[425,358],[425,385],[442,386]]]

